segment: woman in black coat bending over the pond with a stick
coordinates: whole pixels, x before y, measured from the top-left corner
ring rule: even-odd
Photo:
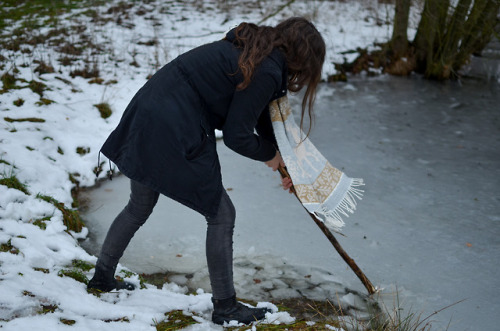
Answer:
[[[222,186],[214,130],[235,152],[283,165],[268,104],[306,87],[302,119],[312,114],[325,43],[304,18],[276,27],[241,23],[223,40],[195,48],[160,69],[134,96],[101,152],[131,179],[128,205],[111,225],[89,289],[133,289],[114,272],[159,194],[205,216],[212,320],[248,324],[266,309],[236,301],[232,269],[235,210]],[[306,110],[307,108],[307,110]],[[302,123],[302,121],[301,121]],[[254,130],[257,134],[254,134]],[[283,180],[283,188],[292,182]]]

